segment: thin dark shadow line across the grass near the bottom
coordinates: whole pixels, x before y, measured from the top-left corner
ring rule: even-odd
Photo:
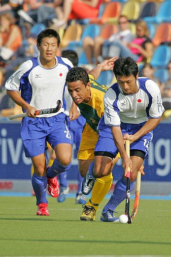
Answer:
[[[116,240],[60,240],[60,239],[23,239],[23,238],[0,238],[0,240],[3,241],[26,241],[26,242],[59,242],[59,243],[89,243],[89,244],[95,244],[95,243],[106,243],[106,244],[148,244],[148,245],[171,245],[171,242],[149,242],[149,241],[136,241],[136,240],[130,240],[130,241],[116,241]]]

